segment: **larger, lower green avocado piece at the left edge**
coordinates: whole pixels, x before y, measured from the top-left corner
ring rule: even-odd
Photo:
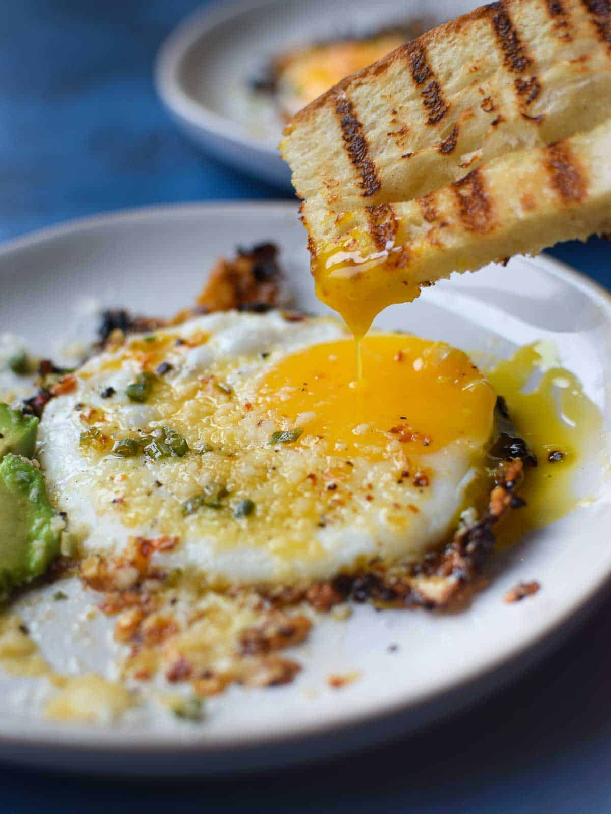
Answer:
[[[40,470],[7,453],[0,462],[0,600],[46,571],[65,525],[51,508]]]

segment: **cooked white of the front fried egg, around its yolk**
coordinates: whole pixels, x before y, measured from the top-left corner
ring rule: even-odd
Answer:
[[[175,343],[176,339],[188,342],[202,332],[209,339],[196,347],[185,348]],[[203,380],[209,370],[220,370],[224,382],[240,402],[254,397],[266,371],[287,354],[345,338],[345,329],[336,320],[309,318],[291,322],[279,313],[218,313],[156,333],[172,339],[165,355],[172,367],[164,376],[165,386],[172,392],[180,393],[182,388]],[[133,341],[128,340],[128,348]],[[396,475],[386,462],[355,461],[351,476],[358,483],[371,481],[376,499],[367,502],[355,492],[354,505],[349,507],[348,513],[329,524],[310,521],[307,524],[305,519],[303,523],[300,520],[300,506],[310,510],[307,498],[300,497],[301,481],[309,467],[320,465],[315,449],[312,448],[311,460],[303,448],[297,450],[290,444],[275,452],[267,443],[273,427],[266,426],[266,422],[259,427],[248,416],[239,428],[244,445],[238,446],[229,460],[206,458],[195,452],[163,462],[150,462],[143,457],[116,457],[109,451],[97,458],[84,454],[79,445],[83,431],[79,418],[81,405],[105,411],[112,419],[111,424],[119,422],[123,430],[160,426],[167,420],[163,415],[164,405],[155,400],[150,404],[134,404],[125,395],[125,388],[137,373],[138,365],[129,352],[125,354],[125,348],[99,354],[79,371],[74,392],[47,405],[40,424],[38,456],[51,495],[59,509],[68,512],[71,528],[80,536],[86,552],[117,555],[134,536],[172,534],[178,537],[176,548],[155,554],[156,562],[162,567],[196,569],[210,580],[231,583],[323,580],[342,569],[354,567],[363,558],[379,557],[389,562],[418,560],[442,540],[464,509],[465,488],[473,478],[473,456],[459,442],[427,455],[426,466],[433,475],[428,488],[402,485],[402,505],[410,503],[417,507],[417,512],[393,508],[392,490],[398,486],[393,485]],[[116,391],[112,399],[103,399],[100,395],[107,387]],[[211,437],[223,434],[224,416],[232,415],[232,409],[228,400],[217,414],[206,418]],[[307,432],[307,426],[305,429]],[[196,430],[194,426],[187,427],[184,434],[187,436]],[[194,449],[193,437],[187,440]],[[285,508],[286,517],[292,523],[291,533],[301,540],[294,549],[287,544],[288,526],[266,525],[265,517],[261,516],[266,511],[265,500],[257,501],[257,516],[253,519],[237,520],[230,511],[214,514],[212,529],[206,527],[206,519],[182,517],[174,508],[174,514],[168,515],[173,518],[172,523],[168,525],[169,521],[164,519],[165,506],[179,505],[189,489],[192,491],[193,484],[200,483],[204,475],[209,477],[210,469],[204,472],[202,466],[212,467],[212,470],[225,467],[228,472],[233,467],[240,470],[240,483],[248,484],[250,458],[242,449],[254,450],[253,489],[257,488],[256,479],[262,467],[265,468],[266,456],[270,462],[279,462],[278,481],[275,484],[270,476],[265,493],[270,494],[273,501],[276,489],[280,501],[283,490],[292,490],[292,506]],[[291,479],[293,484],[289,483]],[[109,499],[115,493],[112,490],[120,494],[121,484],[125,483],[136,484],[130,495],[134,500],[137,498],[138,505],[145,505],[147,499],[157,501],[160,513],[147,515],[143,522],[135,522],[133,517],[127,522],[125,511],[129,512],[129,505],[125,510],[121,502],[114,504]],[[156,485],[159,483],[163,485]],[[388,499],[385,498],[387,492],[391,495]],[[129,504],[130,500],[126,499],[125,503]],[[284,516],[282,506],[275,505],[275,510],[280,512],[278,516]],[[229,541],[225,539],[225,528],[231,528]]]

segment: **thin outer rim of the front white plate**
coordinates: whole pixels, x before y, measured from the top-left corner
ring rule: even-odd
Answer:
[[[269,2],[269,0],[264,0]],[[223,217],[236,217],[240,212],[243,216],[249,212],[270,212],[278,215],[294,212],[297,220],[297,204],[292,201],[210,201],[204,203],[185,204],[156,204],[147,207],[125,208],[112,212],[103,212],[88,217],[64,221],[58,225],[51,225],[40,230],[21,235],[17,238],[0,243],[0,258],[10,256],[15,252],[27,251],[32,247],[42,246],[44,243],[57,239],[70,239],[73,235],[82,234],[87,230],[97,229],[103,225],[116,225],[121,222],[165,220],[167,218],[180,219],[187,215],[200,214],[206,217],[210,212],[221,214]],[[584,291],[591,299],[599,304],[611,322],[611,292],[607,291],[598,282],[586,274],[562,263],[551,256],[524,257],[525,262],[543,268],[551,274],[564,279],[570,284]],[[391,702],[378,699],[370,702],[367,710],[355,713],[345,711],[339,718],[323,722],[296,724],[291,732],[276,733],[260,731],[243,737],[230,735],[222,737],[215,735],[213,740],[206,741],[205,735],[185,739],[179,733],[142,733],[137,727],[132,729],[92,728],[88,725],[75,724],[47,724],[36,721],[30,731],[24,732],[24,727],[30,727],[29,721],[4,722],[0,728],[0,748],[10,746],[20,747],[49,747],[57,751],[69,751],[75,747],[86,746],[91,753],[108,751],[113,753],[142,755],[159,755],[171,750],[175,753],[214,753],[228,754],[252,751],[263,746],[280,746],[288,743],[306,741],[308,738],[321,737],[331,733],[349,732],[350,729],[383,722],[393,716],[400,717],[408,711],[424,709],[430,704],[447,699],[455,694],[466,694],[478,682],[491,678],[502,667],[521,659],[534,661],[537,648],[544,650],[549,646],[556,634],[565,628],[570,628],[574,619],[582,618],[596,604],[596,598],[604,593],[604,588],[611,579],[611,564],[606,570],[600,572],[593,580],[586,593],[576,597],[568,606],[563,606],[554,618],[536,632],[530,632],[521,639],[518,645],[512,646],[503,654],[495,656],[486,666],[473,667],[462,676],[459,681],[445,681],[442,685],[430,692],[423,692],[416,698],[406,701],[394,698]],[[459,704],[457,706],[462,706]],[[19,730],[19,733],[17,733]]]

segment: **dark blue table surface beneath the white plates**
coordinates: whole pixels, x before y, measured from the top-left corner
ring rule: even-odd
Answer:
[[[433,0],[434,2],[434,0]],[[0,239],[147,204],[277,198],[191,146],[152,85],[196,0],[7,0],[0,31]],[[609,244],[552,250],[611,287]],[[0,293],[0,295],[2,295]],[[332,764],[154,786],[0,767],[0,812],[609,812],[611,603],[511,688]],[[417,658],[417,654],[415,654]],[[129,807],[129,809],[128,809]]]

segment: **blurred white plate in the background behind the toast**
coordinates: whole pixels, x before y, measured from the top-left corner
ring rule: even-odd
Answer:
[[[426,21],[426,28],[470,11],[474,0],[249,0],[206,6],[161,47],[156,85],[182,129],[219,159],[288,188],[278,142],[283,123],[249,81],[292,46]]]

